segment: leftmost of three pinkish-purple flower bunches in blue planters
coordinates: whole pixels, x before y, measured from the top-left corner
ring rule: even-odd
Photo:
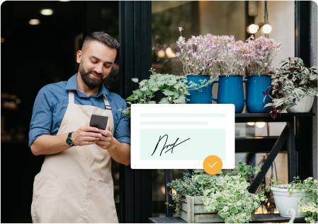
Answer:
[[[181,27],[178,29],[180,33],[183,30]],[[181,60],[186,76],[210,76],[213,73],[212,55],[215,53],[215,48],[206,36],[192,36],[186,41],[181,33],[176,44],[180,48],[176,56]]]

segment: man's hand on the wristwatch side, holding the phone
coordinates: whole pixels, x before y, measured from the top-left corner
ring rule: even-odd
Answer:
[[[95,133],[95,131],[98,131],[98,129],[89,126],[89,124],[81,126],[77,131],[74,131],[72,133],[74,146],[92,145],[93,143],[98,141],[102,135],[99,133]]]

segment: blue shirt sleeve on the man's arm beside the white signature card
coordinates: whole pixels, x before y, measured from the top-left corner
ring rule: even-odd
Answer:
[[[127,108],[125,100],[123,100],[122,107],[123,110]],[[115,138],[120,143],[127,143],[130,145],[130,127],[129,127],[129,117],[120,112],[120,120],[117,124],[115,130]]]

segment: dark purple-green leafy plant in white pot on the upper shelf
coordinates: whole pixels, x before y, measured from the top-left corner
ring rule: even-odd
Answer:
[[[270,107],[268,113],[276,119],[277,114],[285,110],[310,112],[314,96],[318,95],[318,67],[307,69],[298,57],[285,58],[280,64],[282,66],[272,77],[271,90],[264,93],[272,99],[272,102],[265,105]]]

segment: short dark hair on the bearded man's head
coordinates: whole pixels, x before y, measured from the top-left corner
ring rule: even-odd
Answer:
[[[107,33],[93,32],[85,37],[82,51],[84,51],[84,48],[86,48],[89,45],[89,43],[92,42],[93,40],[101,42],[103,45],[106,45],[112,49],[118,50],[120,47],[119,42],[114,37],[108,35]]]

